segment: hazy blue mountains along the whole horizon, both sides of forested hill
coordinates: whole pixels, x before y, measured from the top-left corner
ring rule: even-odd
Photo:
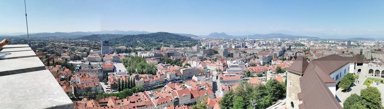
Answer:
[[[55,33],[30,33],[29,36],[89,36],[89,35],[97,35],[97,34],[116,34],[116,35],[139,35],[139,34],[149,34],[151,32],[148,31],[121,31],[121,30],[113,30],[113,31],[77,31],[77,32],[55,32]],[[173,33],[176,35],[187,36],[191,38],[199,38],[199,37],[209,37],[209,38],[247,38],[247,35],[227,35],[226,33],[210,33],[209,35],[192,35],[192,34],[184,34],[184,33]],[[4,35],[0,35],[0,37],[12,37],[12,36],[26,36],[26,33],[18,32],[18,33],[8,33]],[[326,33],[314,33],[314,32],[306,32],[303,34],[295,33],[293,31],[274,31],[270,34],[254,34],[248,35],[248,38],[309,38],[309,39],[318,39],[318,38],[329,38],[329,39],[348,39],[348,38],[366,38],[363,40],[384,40],[384,35],[377,34],[358,34],[358,35],[329,35]],[[349,39],[349,40],[356,40]]]

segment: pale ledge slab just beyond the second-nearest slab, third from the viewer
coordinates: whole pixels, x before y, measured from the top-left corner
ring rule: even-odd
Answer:
[[[30,50],[30,51],[15,51],[15,52],[0,53],[0,60],[28,58],[28,57],[36,57],[35,52]],[[36,61],[35,61],[35,63],[36,63]],[[22,63],[20,63],[20,65],[21,64]],[[18,64],[16,64],[16,65],[18,65]]]

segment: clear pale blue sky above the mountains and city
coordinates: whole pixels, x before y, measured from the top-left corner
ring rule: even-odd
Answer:
[[[230,35],[384,34],[384,0],[26,0],[31,33],[101,30]],[[0,3],[0,33],[26,32],[23,0]]]

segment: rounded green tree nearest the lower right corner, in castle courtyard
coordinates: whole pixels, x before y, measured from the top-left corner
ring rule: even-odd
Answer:
[[[371,109],[382,109],[381,104],[381,92],[379,89],[367,86],[365,89],[361,89],[360,95],[367,101],[367,107]]]

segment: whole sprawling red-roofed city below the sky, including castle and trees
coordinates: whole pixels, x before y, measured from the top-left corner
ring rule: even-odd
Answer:
[[[137,35],[90,36],[30,40],[76,109],[382,108],[384,41],[160,32],[140,36],[164,41],[124,46],[115,39]]]

